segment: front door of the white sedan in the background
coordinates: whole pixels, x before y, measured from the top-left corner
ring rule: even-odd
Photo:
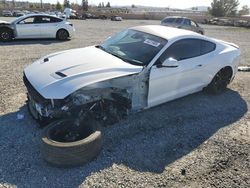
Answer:
[[[36,17],[28,17],[16,24],[16,38],[40,38],[41,24],[36,23]]]

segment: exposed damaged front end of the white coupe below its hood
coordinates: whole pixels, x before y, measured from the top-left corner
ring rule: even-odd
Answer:
[[[92,116],[104,124],[113,124],[131,112],[147,106],[148,74],[134,74],[83,87],[64,99],[45,99],[24,75],[28,107],[32,116],[47,124],[54,119]]]

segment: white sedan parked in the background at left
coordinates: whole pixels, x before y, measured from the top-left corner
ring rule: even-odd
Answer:
[[[11,23],[0,25],[0,40],[57,38],[66,40],[74,35],[74,27],[67,20],[46,14],[30,14]]]

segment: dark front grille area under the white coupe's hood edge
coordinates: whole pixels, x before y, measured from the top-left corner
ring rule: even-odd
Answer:
[[[34,101],[40,104],[45,104],[50,102],[49,99],[45,99],[40,93],[38,93],[38,91],[31,85],[25,74],[23,74],[23,82],[28,90],[29,95],[32,97]]]

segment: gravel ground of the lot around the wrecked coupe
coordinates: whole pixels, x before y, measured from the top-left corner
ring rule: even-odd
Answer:
[[[0,18],[0,20],[6,18]],[[73,21],[67,42],[0,43],[0,187],[250,187],[250,74],[226,93],[202,92],[140,112],[104,130],[104,147],[83,167],[47,165],[25,105],[23,68],[46,54],[98,44],[121,29],[158,21]],[[204,26],[211,37],[238,44],[250,65],[250,30]],[[24,118],[18,120],[18,116]]]

